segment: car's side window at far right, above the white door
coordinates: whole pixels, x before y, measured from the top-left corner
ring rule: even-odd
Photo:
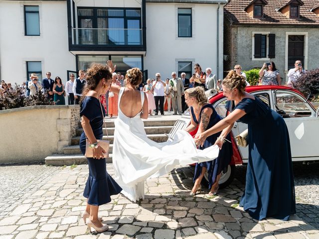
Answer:
[[[303,98],[287,91],[276,91],[276,110],[283,111],[283,118],[310,117],[312,114]]]

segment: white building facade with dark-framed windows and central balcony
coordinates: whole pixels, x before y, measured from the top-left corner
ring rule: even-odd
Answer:
[[[223,76],[223,6],[217,0],[0,0],[0,79],[61,77],[112,60],[146,78]]]

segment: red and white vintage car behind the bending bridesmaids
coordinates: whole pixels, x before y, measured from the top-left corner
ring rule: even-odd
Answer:
[[[319,160],[319,106],[316,108],[298,90],[285,86],[251,86],[246,91],[259,97],[271,109],[278,112],[287,124],[290,136],[292,161],[308,163]],[[209,102],[221,116],[226,116],[226,98],[222,93],[210,93]],[[189,111],[175,122],[169,133],[171,137],[176,130],[185,128],[190,122]],[[226,187],[234,178],[236,164],[248,162],[248,147],[239,147],[234,136],[247,128],[247,124],[236,122],[232,129],[233,156],[228,170],[220,178],[220,187]],[[197,129],[191,132],[196,133]],[[271,149],[270,149],[271,150]],[[207,175],[205,175],[207,180]],[[203,184],[207,184],[202,180]]]

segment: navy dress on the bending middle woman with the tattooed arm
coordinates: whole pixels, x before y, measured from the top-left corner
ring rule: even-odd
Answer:
[[[198,120],[196,119],[193,108],[190,107],[191,116],[194,122],[199,124],[201,119],[201,113],[205,108],[210,108],[213,110],[213,113],[211,114],[208,125],[207,125],[207,128],[211,128],[213,125],[215,125],[217,122],[221,120],[220,116],[217,114],[217,112],[215,111],[212,105],[207,104],[201,108]],[[207,128],[205,128],[205,130]],[[218,132],[208,136],[204,142],[203,147],[200,146],[199,149],[204,149],[211,145],[214,145],[220,133],[221,132]],[[226,138],[230,141],[230,134],[228,134]],[[208,172],[208,189],[211,189],[212,185],[216,182],[217,176],[221,172],[224,172],[224,173],[227,172],[227,166],[231,161],[232,154],[233,154],[232,145],[230,142],[226,141],[223,144],[221,150],[219,151],[218,157],[216,159],[208,161],[208,162],[196,163],[193,182],[196,181],[196,179],[200,176],[202,172],[202,168],[205,167]]]

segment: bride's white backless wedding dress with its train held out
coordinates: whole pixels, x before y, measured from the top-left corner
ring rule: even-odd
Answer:
[[[184,130],[177,131],[172,141],[158,143],[149,139],[141,113],[133,118],[122,113],[120,102],[124,89],[122,87],[119,93],[112,158],[114,179],[131,201],[144,199],[144,180],[147,178],[164,175],[177,165],[210,161],[218,156],[217,145],[199,150],[192,136]],[[144,92],[141,92],[141,100],[143,106]]]

